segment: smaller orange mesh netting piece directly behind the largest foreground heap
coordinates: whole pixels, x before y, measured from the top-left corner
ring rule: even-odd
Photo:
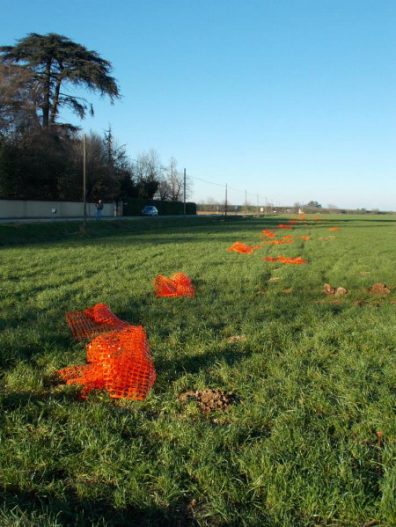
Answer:
[[[73,336],[78,340],[128,326],[128,323],[116,317],[106,304],[95,304],[83,311],[70,311],[66,313],[66,321]]]

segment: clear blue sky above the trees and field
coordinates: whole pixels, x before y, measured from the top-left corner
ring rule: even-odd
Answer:
[[[56,32],[113,64],[89,96],[131,157],[151,148],[193,198],[396,210],[395,0],[0,0],[0,44]],[[78,123],[77,119],[74,119]]]

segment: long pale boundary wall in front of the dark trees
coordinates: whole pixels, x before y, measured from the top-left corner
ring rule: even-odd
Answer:
[[[119,207],[120,209],[120,207]],[[102,216],[116,215],[114,203],[104,203]],[[118,210],[118,216],[122,211]],[[74,201],[31,201],[0,199],[0,219],[22,218],[82,218],[84,205]],[[87,216],[96,216],[95,203],[87,203]]]

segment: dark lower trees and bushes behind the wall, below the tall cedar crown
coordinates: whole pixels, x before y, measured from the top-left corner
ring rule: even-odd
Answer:
[[[174,159],[164,167],[150,151],[131,161],[111,130],[84,138],[55,127],[0,134],[0,198],[81,201],[84,148],[88,201],[183,199],[183,175]]]

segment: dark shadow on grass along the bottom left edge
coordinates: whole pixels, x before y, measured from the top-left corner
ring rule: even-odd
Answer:
[[[105,490],[112,489],[101,489]],[[79,497],[74,490],[67,490],[64,496],[57,497],[51,493],[40,494],[18,488],[7,488],[0,492],[3,511],[10,521],[15,517],[37,519],[43,516],[55,520],[56,525],[88,526],[101,525],[112,527],[140,526],[195,526],[196,522],[189,513],[186,503],[176,502],[169,508],[156,506],[127,506],[116,508],[107,499],[87,499]],[[33,523],[23,523],[23,525]],[[11,525],[11,523],[9,523]],[[34,525],[38,525],[34,523]]]

